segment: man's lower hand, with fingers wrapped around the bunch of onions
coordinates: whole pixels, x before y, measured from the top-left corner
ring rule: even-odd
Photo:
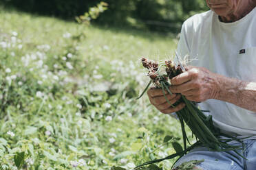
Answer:
[[[184,103],[180,103],[178,104],[178,106],[175,106],[173,108],[170,104],[175,104],[175,102],[180,99],[181,95],[174,93],[170,95],[167,91],[165,91],[165,95],[170,101],[169,104],[165,99],[164,94],[162,93],[162,89],[160,88],[150,88],[149,90],[147,90],[147,95],[149,97],[150,103],[153,104],[153,106],[155,106],[158,110],[160,110],[160,112],[164,114],[178,112],[179,110],[182,110],[184,106],[186,106]]]

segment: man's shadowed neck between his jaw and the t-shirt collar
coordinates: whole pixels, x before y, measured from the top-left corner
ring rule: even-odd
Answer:
[[[244,2],[241,4],[237,4],[237,10],[231,12],[227,16],[220,16],[220,20],[224,23],[233,23],[242,19],[246,14],[252,11],[256,6],[255,0],[243,0]]]

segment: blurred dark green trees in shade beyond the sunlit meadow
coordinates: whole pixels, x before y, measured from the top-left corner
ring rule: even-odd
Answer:
[[[179,32],[189,16],[207,10],[204,0],[105,0],[108,9],[94,23],[135,27],[158,32]],[[6,7],[73,20],[100,0],[2,0]]]

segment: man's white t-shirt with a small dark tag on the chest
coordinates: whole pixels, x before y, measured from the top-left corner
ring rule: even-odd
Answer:
[[[195,14],[182,25],[180,56],[189,54],[191,65],[213,73],[256,82],[256,8],[233,23],[223,23],[213,11]],[[256,96],[255,96],[256,97]],[[208,99],[199,104],[213,115],[216,127],[239,135],[256,134],[256,113],[225,101]]]

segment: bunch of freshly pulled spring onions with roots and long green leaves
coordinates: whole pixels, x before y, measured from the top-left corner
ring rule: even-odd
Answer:
[[[142,95],[147,91],[147,88],[149,88],[150,84],[153,84],[156,88],[162,89],[162,93],[165,99],[170,104],[165,93],[168,92],[171,95],[171,91],[169,90],[169,86],[171,86],[171,84],[169,82],[173,77],[182,73],[180,64],[175,66],[175,64],[173,64],[171,60],[167,60],[163,64],[158,64],[158,62],[148,60],[147,58],[142,58],[141,62],[142,62],[142,65],[148,71],[147,75],[150,77],[150,82],[145,88],[145,90],[143,91],[143,93],[140,95],[140,97],[142,97]],[[164,71],[162,71],[163,68],[164,68]],[[137,99],[139,99],[140,97],[138,97]],[[210,151],[233,150],[237,153],[237,155],[242,156],[236,151],[237,149],[242,149],[244,147],[244,143],[241,141],[242,140],[241,138],[238,139],[233,136],[222,134],[219,129],[213,126],[212,116],[210,115],[206,117],[206,115],[202,112],[202,110],[200,110],[197,106],[195,106],[195,104],[192,101],[189,101],[188,99],[186,99],[186,97],[182,96],[180,101],[177,101],[177,102],[184,102],[186,104],[186,106],[182,110],[176,112],[178,116],[178,120],[180,121],[181,129],[182,129],[184,150],[179,153],[175,153],[173,155],[167,156],[166,158],[145,162],[144,164],[139,165],[138,167],[150,165],[166,159],[175,158],[177,156],[182,157],[184,154],[186,154],[187,151],[190,151],[191,149],[198,146],[207,147]],[[175,107],[177,104],[178,103],[173,105],[170,104],[170,105],[172,107]],[[186,131],[184,128],[185,123],[186,125],[189,126],[192,134],[194,134],[196,138],[197,142],[194,143],[193,145],[190,145],[189,139],[186,136]],[[223,138],[220,138],[220,136],[225,136],[226,138],[223,139]],[[228,145],[228,142],[233,140],[239,141],[240,143],[242,143],[242,145],[241,146]],[[189,147],[187,147],[187,142],[190,145]],[[136,167],[136,169],[138,167]]]

